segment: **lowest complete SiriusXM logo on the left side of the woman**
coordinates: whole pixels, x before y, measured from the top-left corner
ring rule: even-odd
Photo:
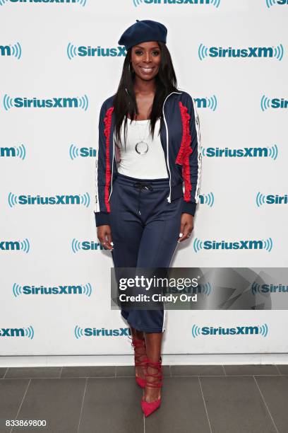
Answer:
[[[20,295],[78,295],[83,294],[85,296],[91,296],[92,286],[88,284],[79,284],[76,286],[34,286],[30,284],[25,284],[25,286],[20,286],[20,284],[14,283],[12,287],[13,295],[17,298]]]

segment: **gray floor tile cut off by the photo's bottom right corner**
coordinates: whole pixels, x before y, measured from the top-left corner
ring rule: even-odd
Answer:
[[[279,433],[288,432],[288,376],[256,377]]]

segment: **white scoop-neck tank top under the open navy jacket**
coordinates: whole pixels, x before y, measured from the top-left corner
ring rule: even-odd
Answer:
[[[126,149],[124,144],[124,122],[121,128],[121,160],[119,173],[138,179],[168,178],[164,151],[160,141],[160,119],[155,124],[154,139],[150,135],[150,120],[127,121]],[[148,151],[138,154],[136,144],[145,142]],[[147,149],[145,144],[137,146],[138,151]]]

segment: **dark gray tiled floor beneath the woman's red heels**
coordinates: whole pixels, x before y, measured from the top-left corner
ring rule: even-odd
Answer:
[[[0,432],[287,433],[288,365],[164,366],[145,418],[132,366],[0,368]],[[5,420],[47,427],[5,427]]]

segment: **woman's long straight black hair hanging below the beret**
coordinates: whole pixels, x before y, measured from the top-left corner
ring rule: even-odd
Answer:
[[[177,91],[177,79],[174,71],[171,54],[164,44],[158,42],[161,52],[160,67],[155,76],[156,91],[150,113],[150,134],[154,137],[155,123],[158,118],[162,119],[162,107],[165,98],[169,93]],[[136,96],[134,92],[135,72],[131,67],[132,48],[127,50],[124,60],[122,75],[118,90],[114,95],[114,115],[115,115],[115,138],[116,145],[121,144],[121,125],[124,120],[124,142],[126,145],[127,134],[127,115],[132,120],[138,115]]]

